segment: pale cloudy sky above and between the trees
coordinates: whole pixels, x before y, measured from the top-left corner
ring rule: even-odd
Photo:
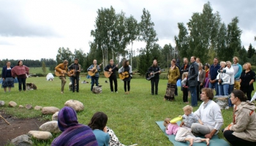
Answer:
[[[256,46],[256,1],[214,0],[210,1],[214,12],[219,12],[226,25],[238,16],[242,45]],[[69,47],[89,53],[90,32],[94,30],[97,10],[113,8],[138,22],[143,8],[151,13],[157,42],[176,46],[177,23],[187,24],[193,12],[202,12],[206,0],[0,0],[0,59],[56,59],[59,47]],[[145,47],[135,42],[136,50]]]

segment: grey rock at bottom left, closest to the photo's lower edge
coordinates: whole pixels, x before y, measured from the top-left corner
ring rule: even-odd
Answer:
[[[12,139],[11,144],[15,146],[31,146],[33,145],[33,142],[28,135],[23,134],[19,137],[16,137],[15,139]]]

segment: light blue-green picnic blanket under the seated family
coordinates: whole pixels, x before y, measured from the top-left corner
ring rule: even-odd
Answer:
[[[164,121],[157,121],[156,122],[159,128],[164,132],[166,137],[170,140],[170,142],[173,143],[174,146],[187,146],[189,145],[189,142],[177,142],[175,140],[175,135],[167,135],[165,133],[165,126],[164,126]],[[178,125],[181,123],[180,121],[177,122]],[[193,143],[193,146],[206,146],[206,142],[201,142],[201,143]],[[224,139],[219,139],[217,135],[211,138],[210,140],[210,146],[230,146],[228,142],[226,142]]]

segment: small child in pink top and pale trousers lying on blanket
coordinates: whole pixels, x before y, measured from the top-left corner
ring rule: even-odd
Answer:
[[[210,139],[202,139],[195,137],[187,128],[179,127],[177,123],[170,123],[170,118],[165,118],[164,121],[165,132],[168,135],[176,135],[175,140],[178,142],[189,142],[189,146],[193,145],[193,142],[206,142],[206,145],[210,144]]]

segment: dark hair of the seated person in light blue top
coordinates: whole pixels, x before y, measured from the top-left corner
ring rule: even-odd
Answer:
[[[102,130],[105,128],[105,126],[108,123],[108,116],[104,112],[96,112],[92,118],[88,126],[94,130],[99,129]]]

